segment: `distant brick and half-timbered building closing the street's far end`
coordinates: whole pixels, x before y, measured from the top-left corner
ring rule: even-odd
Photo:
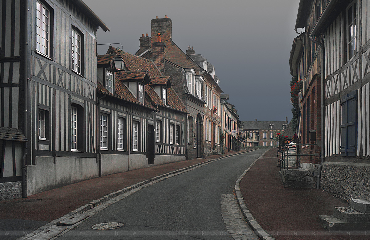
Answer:
[[[285,121],[241,121],[243,128],[241,145],[242,147],[252,146],[277,146],[277,133],[283,133],[288,125],[288,117]]]

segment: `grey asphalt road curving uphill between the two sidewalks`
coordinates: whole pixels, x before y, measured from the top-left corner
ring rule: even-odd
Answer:
[[[231,156],[145,187],[84,220],[58,239],[229,239],[222,195],[266,149]],[[98,223],[123,227],[94,230]]]

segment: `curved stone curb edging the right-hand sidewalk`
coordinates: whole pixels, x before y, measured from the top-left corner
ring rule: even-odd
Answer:
[[[273,237],[270,236],[262,227],[260,224],[258,224],[253,217],[253,215],[249,212],[249,209],[245,205],[242,193],[240,192],[239,183],[244,177],[244,175],[248,172],[250,168],[257,162],[258,159],[263,158],[265,156],[265,153],[268,152],[270,149],[266,150],[259,158],[257,158],[247,170],[243,172],[242,175],[240,175],[239,179],[235,183],[235,193],[236,193],[236,200],[238,201],[240,210],[242,210],[243,216],[245,217],[245,220],[248,222],[249,226],[252,228],[252,230],[256,233],[256,235],[261,240],[275,240]]]

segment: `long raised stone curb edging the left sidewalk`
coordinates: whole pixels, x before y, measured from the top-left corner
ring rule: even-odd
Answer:
[[[60,217],[58,219],[55,219],[55,220],[51,221],[50,223],[47,223],[46,225],[44,225],[42,227],[39,227],[37,230],[33,231],[32,233],[29,233],[29,234],[27,234],[27,235],[25,235],[23,237],[20,237],[17,240],[26,240],[26,239],[30,239],[30,238],[32,238],[33,240],[34,239],[37,239],[37,237],[35,236],[36,234],[41,233],[41,232],[43,232],[43,231],[45,231],[47,229],[53,228],[61,220],[67,219],[67,218],[73,216],[74,214],[84,213],[84,212],[86,212],[86,211],[88,211],[88,210],[90,210],[90,209],[92,209],[94,207],[97,207],[97,206],[101,205],[102,203],[105,203],[105,202],[111,200],[114,197],[117,197],[117,196],[120,196],[120,195],[122,195],[124,193],[130,192],[130,191],[132,191],[132,190],[134,190],[134,189],[136,189],[136,188],[138,188],[138,187],[140,187],[142,185],[145,185],[145,184],[148,184],[148,183],[151,183],[151,182],[160,180],[160,179],[163,179],[164,180],[165,178],[169,178],[171,176],[175,176],[175,175],[177,175],[179,173],[182,173],[182,172],[187,172],[188,170],[191,170],[193,168],[197,168],[197,167],[206,165],[208,163],[215,162],[215,161],[220,160],[220,159],[224,159],[224,158],[228,158],[228,157],[231,157],[231,156],[240,155],[240,154],[247,153],[247,152],[252,152],[252,151],[255,151],[255,150],[250,150],[250,151],[240,152],[240,153],[234,153],[234,154],[230,154],[230,155],[227,155],[227,156],[222,156],[220,158],[210,159],[210,160],[205,161],[205,162],[197,163],[197,164],[188,166],[186,168],[177,169],[175,171],[164,173],[162,175],[155,176],[153,178],[144,180],[142,182],[135,183],[134,185],[125,187],[124,189],[121,189],[121,190],[118,190],[116,192],[113,192],[113,193],[110,193],[108,195],[105,195],[104,197],[101,197],[101,198],[99,198],[97,200],[92,200],[90,203],[87,203],[84,206],[81,206],[81,207],[79,207],[79,208],[77,208],[77,209],[75,209],[75,210],[73,210],[73,211],[65,214],[63,217]],[[65,230],[67,230],[67,228]],[[63,230],[60,233],[54,235],[53,237],[50,237],[50,239],[54,239],[54,237],[60,236],[60,235],[64,234],[65,230]]]

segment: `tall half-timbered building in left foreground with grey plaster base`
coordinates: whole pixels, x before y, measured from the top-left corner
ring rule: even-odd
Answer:
[[[95,44],[109,28],[80,0],[3,1],[0,12],[1,181],[23,175],[27,196],[97,176]]]

